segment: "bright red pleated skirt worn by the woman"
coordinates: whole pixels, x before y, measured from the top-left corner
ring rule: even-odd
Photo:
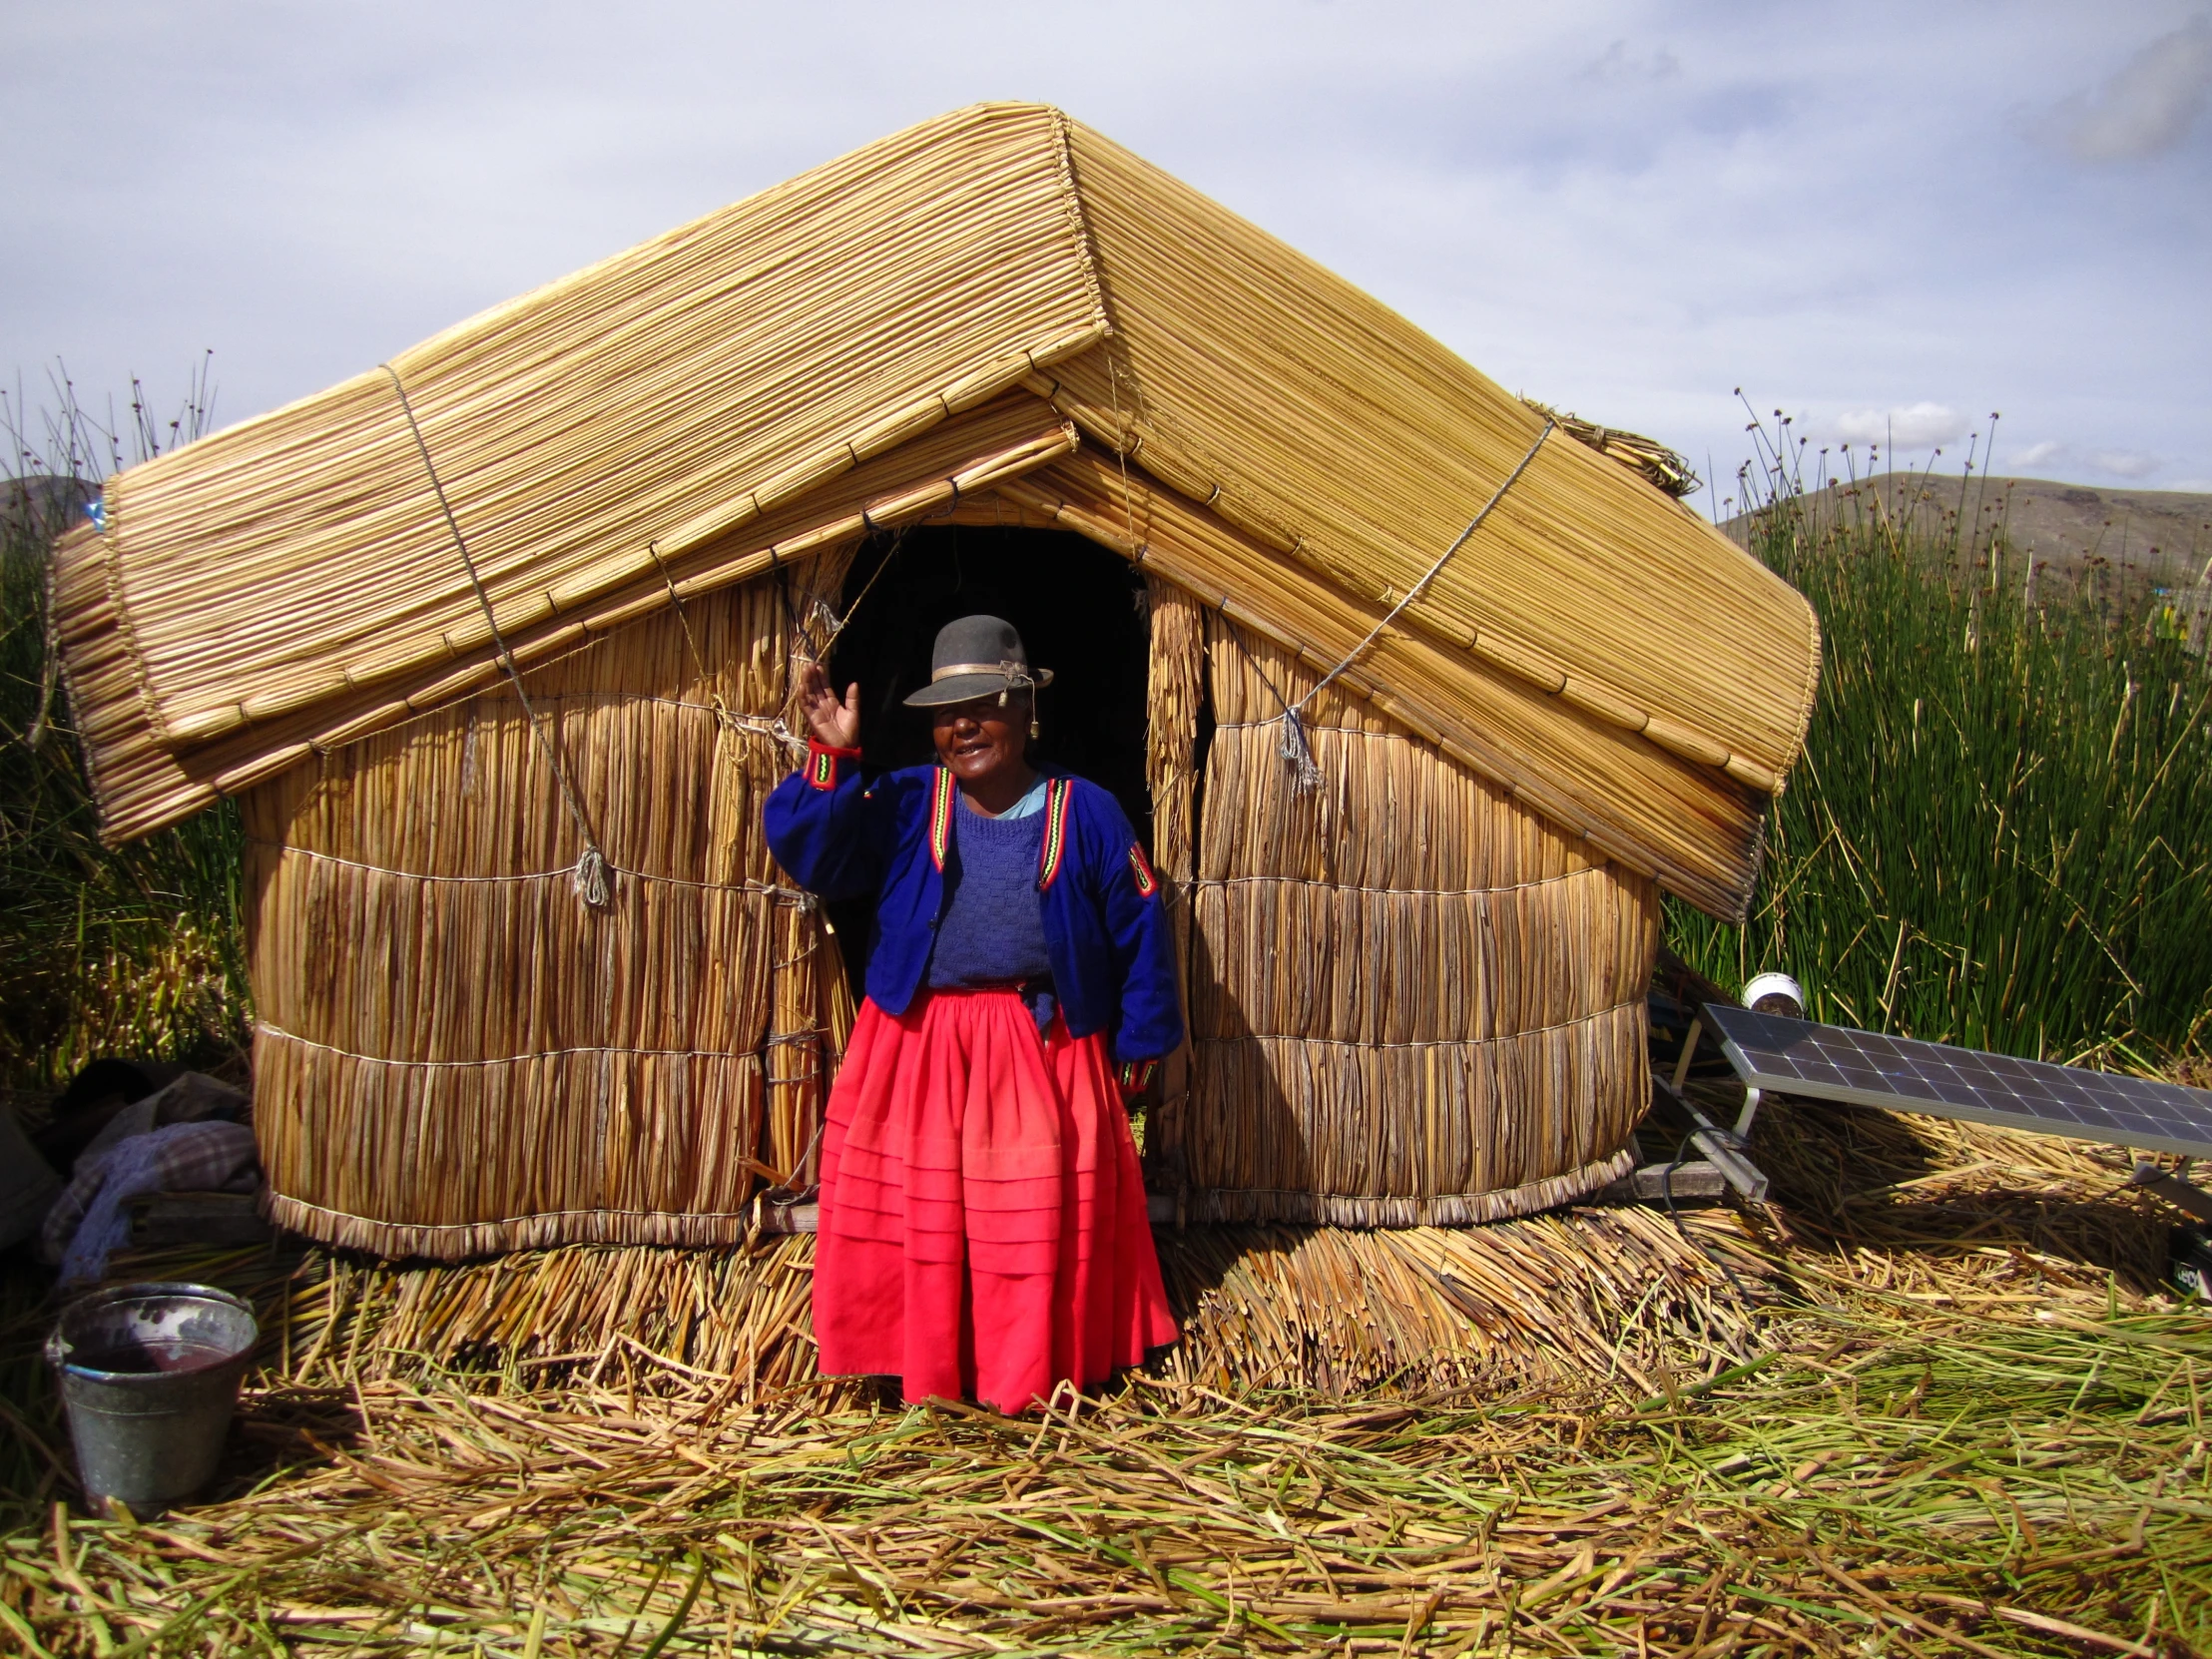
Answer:
[[[1104,1033],[1013,991],[860,1004],[823,1130],[814,1338],[832,1376],[1020,1411],[1177,1338]]]

